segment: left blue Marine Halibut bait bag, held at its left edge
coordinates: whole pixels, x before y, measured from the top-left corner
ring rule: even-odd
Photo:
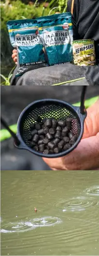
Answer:
[[[36,19],[12,20],[7,22],[10,41],[17,48],[17,74],[42,67],[45,63]],[[45,65],[44,65],[45,66]]]

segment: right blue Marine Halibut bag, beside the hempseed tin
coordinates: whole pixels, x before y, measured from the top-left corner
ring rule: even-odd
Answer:
[[[73,63],[71,13],[37,18],[49,66]]]

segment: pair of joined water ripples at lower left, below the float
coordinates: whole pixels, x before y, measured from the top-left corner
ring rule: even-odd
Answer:
[[[61,223],[62,220],[57,217],[44,217],[31,219],[29,221],[9,222],[0,229],[1,233],[26,232],[37,227],[53,226]]]

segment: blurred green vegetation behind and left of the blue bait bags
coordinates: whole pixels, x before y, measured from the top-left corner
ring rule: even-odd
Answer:
[[[14,19],[36,18],[56,12],[66,12],[67,0],[1,0],[1,73],[7,77],[14,62],[6,22]],[[3,77],[2,77],[3,78]]]

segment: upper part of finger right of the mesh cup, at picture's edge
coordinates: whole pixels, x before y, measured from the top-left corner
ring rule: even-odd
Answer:
[[[99,132],[99,99],[87,109],[87,117],[84,121],[83,137],[95,136]]]

